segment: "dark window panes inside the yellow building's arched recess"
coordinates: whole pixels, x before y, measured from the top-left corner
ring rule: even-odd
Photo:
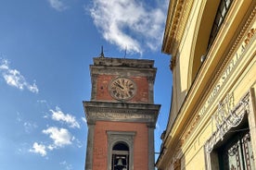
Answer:
[[[211,29],[211,35],[210,35],[210,39],[208,42],[208,49],[211,48],[211,44],[214,41],[218,31],[220,30],[223,22],[224,22],[224,18],[227,14],[227,11],[229,9],[229,7],[231,6],[233,0],[221,0],[220,5],[217,9],[217,13],[213,22],[213,26]]]

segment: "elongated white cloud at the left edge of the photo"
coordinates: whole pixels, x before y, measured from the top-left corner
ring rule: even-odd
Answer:
[[[0,72],[2,72],[3,78],[9,86],[18,88],[19,90],[24,90],[25,88],[34,93],[38,93],[37,85],[35,81],[30,84],[17,69],[9,68],[8,61],[5,59],[0,59]]]

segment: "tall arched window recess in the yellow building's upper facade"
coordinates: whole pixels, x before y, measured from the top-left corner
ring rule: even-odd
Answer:
[[[192,55],[189,61],[188,87],[196,79],[199,68],[206,59],[233,1],[206,1],[205,6],[202,6],[202,12],[198,17],[198,28],[194,33],[197,36],[193,40]]]

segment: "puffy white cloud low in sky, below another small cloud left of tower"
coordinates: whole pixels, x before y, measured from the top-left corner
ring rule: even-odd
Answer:
[[[43,133],[49,135],[49,137],[54,141],[54,144],[49,145],[48,147],[50,150],[70,145],[72,140],[74,140],[74,137],[71,136],[69,130],[66,128],[50,127],[43,130]]]

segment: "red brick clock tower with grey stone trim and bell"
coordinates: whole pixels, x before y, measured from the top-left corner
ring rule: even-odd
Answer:
[[[85,170],[154,170],[154,61],[101,55],[90,71]]]

